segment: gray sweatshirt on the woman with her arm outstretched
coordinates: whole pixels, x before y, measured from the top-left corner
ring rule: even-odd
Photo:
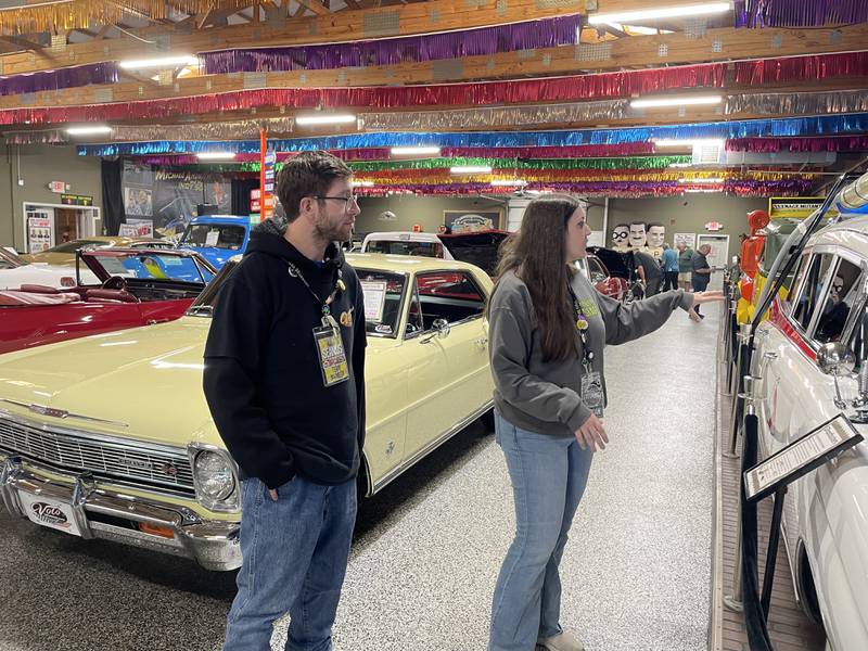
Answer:
[[[588,319],[592,368],[602,378],[603,391],[604,344],[623,344],[653,332],[677,307],[687,310],[693,304],[692,294],[674,290],[624,306],[597,292],[582,273],[571,285]],[[574,436],[591,413],[579,397],[585,370],[578,332],[574,357],[542,361],[531,293],[514,271],[508,271],[492,296],[488,335],[495,406],[503,418],[523,430]]]

